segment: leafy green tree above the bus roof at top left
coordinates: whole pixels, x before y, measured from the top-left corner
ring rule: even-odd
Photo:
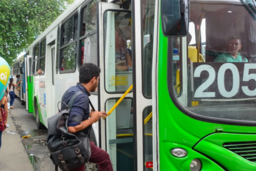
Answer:
[[[11,66],[74,0],[0,1],[0,57]]]

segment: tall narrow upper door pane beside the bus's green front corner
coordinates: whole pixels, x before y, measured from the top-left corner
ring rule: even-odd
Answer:
[[[142,1],[142,91],[146,98],[152,97],[152,55],[155,21],[155,1]]]

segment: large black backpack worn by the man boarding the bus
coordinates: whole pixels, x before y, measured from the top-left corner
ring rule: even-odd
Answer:
[[[84,92],[78,91],[75,93],[69,101],[68,106],[66,105],[66,109],[63,111],[59,110],[58,114],[48,119],[46,144],[51,152],[50,158],[55,165],[55,170],[57,170],[58,166],[64,171],[76,169],[85,165],[91,157],[89,135],[85,134],[83,131],[71,134],[67,129],[67,121],[74,99],[82,93]],[[89,103],[91,104],[90,100]],[[93,106],[92,109],[95,111]],[[89,132],[90,131],[91,130],[89,130]]]

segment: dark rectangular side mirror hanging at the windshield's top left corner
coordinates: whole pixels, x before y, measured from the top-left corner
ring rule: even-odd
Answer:
[[[162,0],[161,13],[164,36],[187,35],[189,31],[189,0]]]

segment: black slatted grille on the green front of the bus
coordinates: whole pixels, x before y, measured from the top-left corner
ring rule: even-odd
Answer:
[[[235,154],[256,163],[256,141],[254,142],[227,142],[223,146]]]

